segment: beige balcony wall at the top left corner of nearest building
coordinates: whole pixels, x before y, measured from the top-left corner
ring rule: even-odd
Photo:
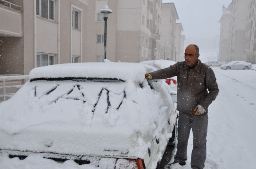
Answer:
[[[0,36],[22,37],[21,6],[0,0]]]

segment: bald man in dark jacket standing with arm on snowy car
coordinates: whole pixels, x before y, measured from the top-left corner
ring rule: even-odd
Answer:
[[[146,73],[145,78],[167,79],[177,76],[177,110],[178,143],[174,163],[165,166],[171,169],[175,163],[185,165],[189,133],[193,131],[193,150],[191,156],[191,168],[203,169],[206,160],[206,136],[208,127],[208,106],[216,99],[219,93],[216,77],[213,70],[202,63],[198,57],[199,48],[190,44],[184,54],[185,61]],[[209,92],[208,92],[209,91]],[[178,164],[176,164],[178,165]]]

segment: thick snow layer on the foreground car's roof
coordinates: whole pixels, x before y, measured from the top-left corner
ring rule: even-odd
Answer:
[[[115,78],[142,82],[144,74],[151,70],[154,68],[138,63],[67,63],[32,69],[29,78]]]

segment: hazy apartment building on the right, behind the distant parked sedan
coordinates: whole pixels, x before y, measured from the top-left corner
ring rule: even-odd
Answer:
[[[227,11],[228,10],[228,11]],[[256,1],[232,0],[221,23],[219,61],[256,63]]]

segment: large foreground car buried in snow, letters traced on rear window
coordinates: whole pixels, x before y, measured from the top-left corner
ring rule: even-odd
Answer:
[[[155,169],[177,114],[168,85],[145,79],[154,70],[112,62],[32,69],[0,103],[1,160],[40,156],[86,169]]]

